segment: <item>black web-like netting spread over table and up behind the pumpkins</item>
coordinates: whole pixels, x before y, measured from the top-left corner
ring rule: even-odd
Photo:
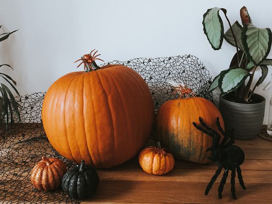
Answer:
[[[183,55],[159,58],[114,60],[110,64],[123,64],[137,71],[148,83],[154,98],[155,110],[162,103],[177,96],[171,95],[169,80],[183,82],[197,96],[212,100],[206,91],[211,76],[195,56]],[[41,107],[45,93],[16,97],[21,112],[21,123],[8,131],[0,129],[0,202],[4,203],[60,203],[73,202],[62,190],[42,192],[30,182],[31,169],[42,156],[60,158],[67,167],[74,165],[60,156],[50,145],[41,124]]]

